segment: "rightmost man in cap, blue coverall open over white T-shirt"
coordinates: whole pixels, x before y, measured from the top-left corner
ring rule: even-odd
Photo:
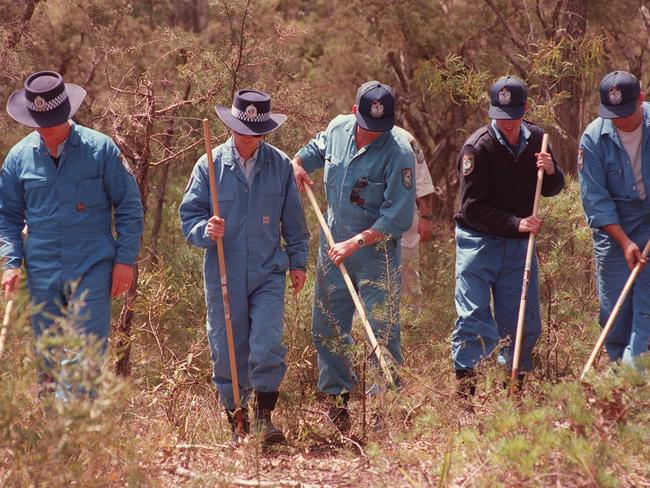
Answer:
[[[600,84],[600,107],[580,140],[580,194],[593,231],[600,323],[604,325],[650,239],[650,104],[639,80],[614,71]],[[650,271],[637,277],[607,336],[612,360],[634,364],[650,340]]]

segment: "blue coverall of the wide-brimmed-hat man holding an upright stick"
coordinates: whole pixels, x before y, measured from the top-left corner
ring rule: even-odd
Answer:
[[[231,194],[229,203],[219,210],[226,220],[223,241],[231,320],[242,404],[246,405],[251,389],[277,391],[284,376],[286,347],[282,344],[282,316],[285,272],[287,266],[303,269],[306,265],[308,235],[298,190],[290,179],[287,156],[262,143],[256,166],[260,165],[263,170],[255,169],[251,181],[246,182],[243,173],[232,167],[237,163],[229,159],[231,143],[229,140],[215,149],[214,161],[217,169],[225,168],[224,177],[219,182],[219,194]],[[212,381],[219,390],[220,400],[232,410],[234,399],[228,373],[223,302],[218,285],[218,256],[214,243],[205,234],[210,217],[206,205],[210,199],[207,173],[206,158],[202,157],[194,167],[179,212],[185,238],[192,244],[207,248],[203,273],[208,311],[206,327],[213,362]],[[285,196],[281,214],[267,212],[268,194]],[[267,223],[264,216],[273,220]],[[276,216],[279,222],[275,220]],[[270,232],[269,225],[277,226],[277,233]],[[284,239],[284,249],[279,245],[278,235]]]

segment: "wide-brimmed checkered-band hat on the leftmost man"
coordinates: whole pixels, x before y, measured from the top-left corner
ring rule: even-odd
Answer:
[[[25,80],[25,88],[11,94],[7,113],[27,127],[54,127],[70,120],[86,96],[86,90],[64,83],[55,71],[39,71]]]

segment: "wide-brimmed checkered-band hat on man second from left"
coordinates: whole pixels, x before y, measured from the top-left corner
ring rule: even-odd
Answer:
[[[271,97],[259,90],[238,90],[231,107],[217,105],[215,109],[224,124],[245,136],[268,134],[287,120],[284,114],[271,113]]]

